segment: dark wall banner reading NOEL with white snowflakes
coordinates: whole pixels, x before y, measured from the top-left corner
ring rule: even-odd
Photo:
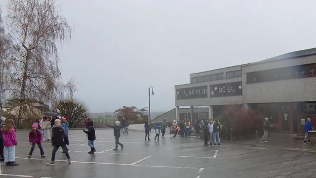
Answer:
[[[242,95],[242,82],[210,85],[210,97]]]

